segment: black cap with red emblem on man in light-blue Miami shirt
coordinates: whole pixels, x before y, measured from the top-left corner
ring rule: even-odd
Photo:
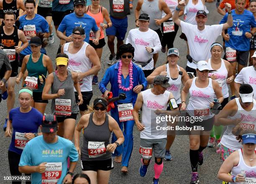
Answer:
[[[44,114],[42,123],[43,133],[55,133],[57,131],[57,120],[55,115]]]

